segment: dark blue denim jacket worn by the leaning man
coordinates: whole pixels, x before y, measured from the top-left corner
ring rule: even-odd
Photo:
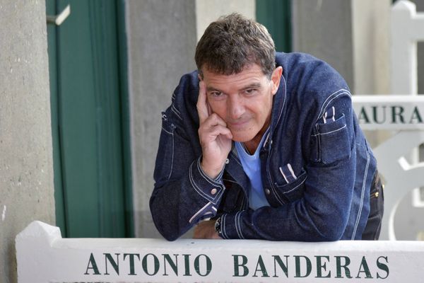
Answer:
[[[182,76],[162,114],[150,208],[167,240],[221,217],[223,238],[361,239],[376,160],[340,74],[308,54],[276,53],[283,67],[269,134],[260,149],[270,207],[249,209],[249,179],[232,147],[212,180],[202,171],[197,71]],[[290,177],[290,178],[288,178]]]

